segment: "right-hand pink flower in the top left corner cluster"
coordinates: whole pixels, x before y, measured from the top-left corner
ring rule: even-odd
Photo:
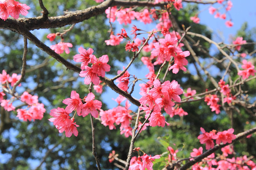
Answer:
[[[26,16],[28,14],[28,11],[30,9],[29,6],[27,6],[26,4],[21,4],[20,2],[17,2],[15,0],[12,1],[12,6],[11,6],[11,11],[10,11],[10,15],[15,18],[18,19],[19,15],[22,14],[24,16]]]

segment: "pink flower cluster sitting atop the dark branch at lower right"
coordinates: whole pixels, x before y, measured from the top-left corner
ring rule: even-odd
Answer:
[[[231,143],[233,139],[236,138],[236,135],[234,135],[234,129],[230,128],[228,130],[224,130],[223,132],[217,132],[216,130],[212,130],[210,132],[206,132],[204,128],[200,128],[202,134],[198,136],[198,139],[200,139],[201,144],[206,144],[206,149],[210,149],[214,147],[214,141],[213,139],[216,139],[216,144],[220,144],[221,142]],[[217,134],[216,134],[217,132]]]

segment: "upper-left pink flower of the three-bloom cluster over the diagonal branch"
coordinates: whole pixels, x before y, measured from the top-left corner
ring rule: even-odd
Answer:
[[[74,55],[74,61],[82,62],[81,69],[84,69],[84,66],[87,66],[90,63],[91,58],[90,55],[93,53],[93,49],[89,48],[88,50],[84,49],[83,47],[78,48],[78,52],[80,54]]]

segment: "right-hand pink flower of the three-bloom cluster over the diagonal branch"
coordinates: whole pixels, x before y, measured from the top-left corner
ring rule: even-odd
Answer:
[[[92,63],[92,72],[97,73],[98,76],[105,77],[105,72],[110,71],[110,65],[108,62],[108,55],[102,55],[100,58],[96,58],[95,55],[90,55]]]

